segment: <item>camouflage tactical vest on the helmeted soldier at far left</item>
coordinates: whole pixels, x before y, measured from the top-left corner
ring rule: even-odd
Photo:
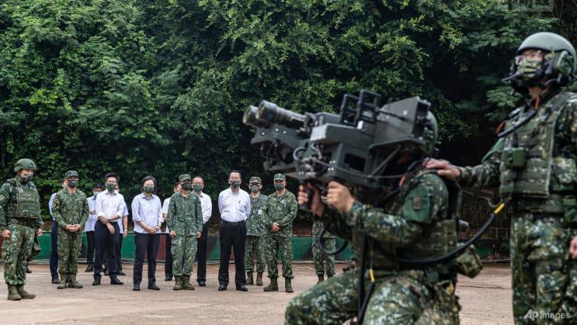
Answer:
[[[8,203],[6,216],[8,218],[38,219],[40,217],[38,190],[22,186],[22,183],[15,181],[15,179],[9,179],[8,183],[13,185],[16,200]]]

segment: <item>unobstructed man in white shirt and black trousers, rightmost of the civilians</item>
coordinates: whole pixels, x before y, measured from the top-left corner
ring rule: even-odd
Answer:
[[[236,290],[248,291],[245,288],[245,220],[250,215],[250,196],[241,190],[241,172],[229,173],[230,188],[218,195],[220,211],[220,267],[218,269],[218,291],[227,290],[229,284],[229,258],[231,247],[234,251],[234,283]]]

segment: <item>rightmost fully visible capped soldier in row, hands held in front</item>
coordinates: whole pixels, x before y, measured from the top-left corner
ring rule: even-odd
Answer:
[[[277,256],[280,251],[282,260],[282,276],[284,276],[284,291],[293,292],[291,279],[293,276],[293,220],[297,216],[297,201],[295,194],[286,190],[286,177],[276,174],[273,181],[275,190],[268,196],[264,215],[266,216],[266,265],[270,284],[264,291],[278,291],[279,268]]]

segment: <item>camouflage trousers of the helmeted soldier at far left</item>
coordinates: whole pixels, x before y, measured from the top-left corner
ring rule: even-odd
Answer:
[[[4,281],[9,285],[25,285],[24,266],[32,253],[35,229],[21,224],[9,224],[10,237],[2,243]]]

